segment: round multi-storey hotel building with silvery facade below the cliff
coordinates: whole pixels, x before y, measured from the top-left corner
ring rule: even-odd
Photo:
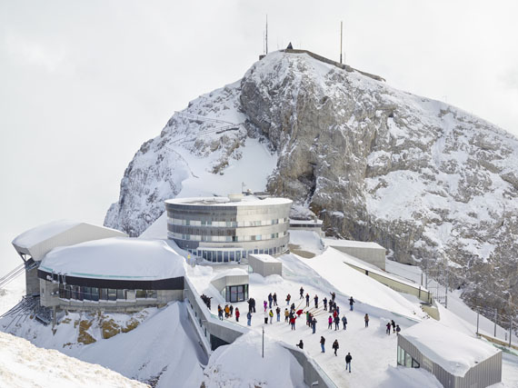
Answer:
[[[248,254],[288,249],[292,200],[241,194],[165,201],[167,237],[214,263],[239,262]]]

